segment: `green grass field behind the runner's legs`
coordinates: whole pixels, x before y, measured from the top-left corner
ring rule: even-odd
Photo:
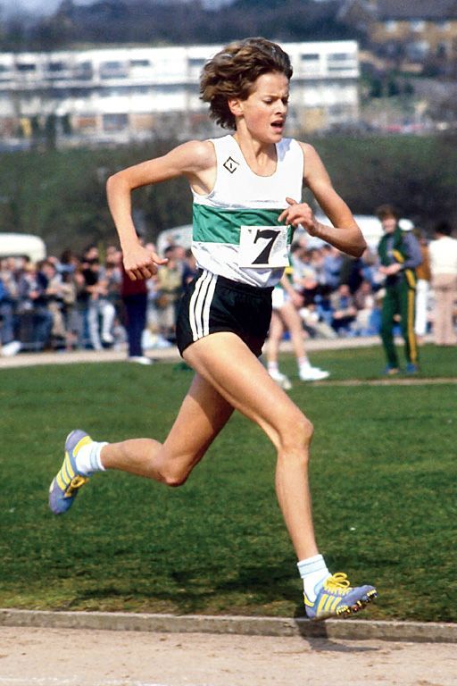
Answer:
[[[312,361],[330,379],[296,381],[291,396],[316,428],[313,506],[329,567],[377,584],[367,617],[457,621],[455,350],[422,348],[411,385],[370,382],[378,347]],[[292,357],[282,368],[294,377]],[[102,474],[68,515],[47,509],[68,431],[163,439],[190,379],[170,363],[0,371],[0,607],[303,615],[274,451],[240,415],[181,489]]]

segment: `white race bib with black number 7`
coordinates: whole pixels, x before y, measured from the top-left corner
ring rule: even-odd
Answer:
[[[240,267],[288,267],[287,226],[241,226]]]

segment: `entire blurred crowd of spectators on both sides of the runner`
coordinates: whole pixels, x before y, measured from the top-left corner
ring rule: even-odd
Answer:
[[[168,263],[147,281],[145,349],[171,346],[179,296],[195,274],[190,250],[170,244]],[[302,297],[303,332],[312,338],[377,335],[383,279],[378,256],[360,259],[299,238],[292,247],[293,283]],[[70,249],[32,264],[26,257],[0,261],[0,342],[4,356],[20,350],[120,349],[126,344],[121,297],[121,253],[108,246]],[[426,330],[431,326],[430,304]]]

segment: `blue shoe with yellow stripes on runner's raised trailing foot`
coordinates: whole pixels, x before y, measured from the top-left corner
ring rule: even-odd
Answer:
[[[54,515],[63,515],[73,505],[81,486],[88,481],[88,477],[80,474],[76,468],[76,456],[79,448],[92,443],[86,431],[75,429],[65,440],[65,457],[59,473],[49,488],[49,507]]]

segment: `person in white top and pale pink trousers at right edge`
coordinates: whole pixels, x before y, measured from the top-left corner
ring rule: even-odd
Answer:
[[[436,346],[455,346],[457,343],[453,325],[457,299],[457,240],[451,233],[448,222],[439,222],[435,227],[435,240],[429,246]]]

